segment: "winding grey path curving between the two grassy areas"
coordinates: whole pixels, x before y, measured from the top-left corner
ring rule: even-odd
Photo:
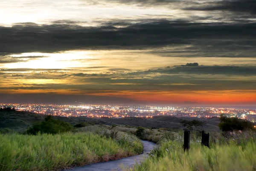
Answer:
[[[156,145],[155,143],[149,141],[141,140],[141,142],[144,145],[143,154],[112,160],[109,162],[94,163],[64,171],[122,171],[123,168],[131,168],[134,166],[134,164],[136,164],[136,162],[140,163],[145,157],[148,157],[147,153]]]

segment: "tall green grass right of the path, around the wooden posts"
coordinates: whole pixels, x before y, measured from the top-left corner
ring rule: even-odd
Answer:
[[[244,137],[243,137],[244,138]],[[161,143],[151,157],[133,171],[255,171],[256,140],[217,141],[210,148],[192,141],[189,152],[184,153],[182,140]]]

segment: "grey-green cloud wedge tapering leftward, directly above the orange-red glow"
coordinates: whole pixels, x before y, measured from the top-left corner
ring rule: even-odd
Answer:
[[[256,67],[251,66],[202,66],[198,63],[188,63],[136,72],[78,73],[73,76],[84,77],[79,79],[99,85],[94,87],[96,89],[101,89],[104,84],[105,90],[254,90],[255,73]],[[241,80],[241,76],[244,80]]]

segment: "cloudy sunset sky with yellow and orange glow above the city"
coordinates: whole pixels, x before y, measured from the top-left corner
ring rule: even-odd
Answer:
[[[255,0],[0,6],[0,102],[256,106]]]

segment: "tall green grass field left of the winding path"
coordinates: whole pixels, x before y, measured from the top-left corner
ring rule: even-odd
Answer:
[[[57,170],[119,159],[142,150],[138,141],[117,141],[93,133],[0,134],[0,171]]]

